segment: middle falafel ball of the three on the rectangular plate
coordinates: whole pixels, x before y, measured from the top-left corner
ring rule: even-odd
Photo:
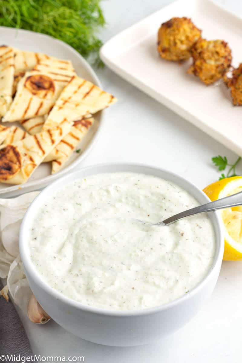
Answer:
[[[192,48],[193,65],[188,73],[199,77],[206,85],[224,76],[231,66],[231,49],[223,40],[200,38]]]

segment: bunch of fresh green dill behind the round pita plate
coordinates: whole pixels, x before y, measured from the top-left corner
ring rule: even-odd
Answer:
[[[0,0],[0,25],[33,30],[60,39],[83,57],[101,60],[96,36],[105,20],[101,0]]]

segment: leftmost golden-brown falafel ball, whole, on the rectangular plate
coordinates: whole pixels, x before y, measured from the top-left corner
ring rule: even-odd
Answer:
[[[190,58],[193,44],[200,38],[199,30],[186,17],[172,18],[161,24],[157,49],[161,58],[168,61],[184,61]]]

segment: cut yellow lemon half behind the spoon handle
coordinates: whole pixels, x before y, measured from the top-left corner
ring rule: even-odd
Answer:
[[[242,192],[242,176],[216,181],[203,191],[211,200]],[[223,209],[220,213],[225,234],[223,260],[242,260],[242,206]]]

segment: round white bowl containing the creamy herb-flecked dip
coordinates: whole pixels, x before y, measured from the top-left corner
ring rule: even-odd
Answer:
[[[115,311],[83,305],[48,286],[30,259],[25,236],[38,209],[57,189],[80,178],[105,172],[136,172],[172,181],[193,195],[201,204],[208,197],[195,185],[171,172],[136,164],[102,164],[73,172],[46,187],[28,208],[21,224],[19,245],[29,285],[47,313],[71,333],[91,342],[110,346],[134,346],[162,338],[185,325],[210,297],[216,285],[223,257],[223,234],[220,217],[210,212],[216,234],[216,254],[208,275],[184,296],[150,309]]]

